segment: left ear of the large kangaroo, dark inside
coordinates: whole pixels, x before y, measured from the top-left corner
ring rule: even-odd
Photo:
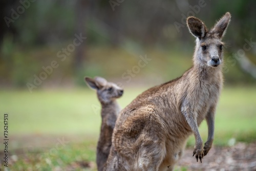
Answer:
[[[207,33],[207,28],[204,23],[194,16],[187,18],[187,27],[190,33],[199,39],[203,38]]]

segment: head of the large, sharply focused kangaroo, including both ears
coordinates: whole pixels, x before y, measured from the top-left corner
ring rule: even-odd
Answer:
[[[217,68],[223,59],[223,46],[221,41],[230,21],[230,13],[227,12],[209,31],[205,24],[198,18],[187,18],[187,27],[196,40],[194,63],[199,66]]]

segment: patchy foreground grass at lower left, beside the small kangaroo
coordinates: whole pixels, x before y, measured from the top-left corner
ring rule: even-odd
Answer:
[[[37,149],[17,155],[11,170],[97,170],[96,141],[68,144],[56,148]],[[1,167],[0,167],[1,168]]]

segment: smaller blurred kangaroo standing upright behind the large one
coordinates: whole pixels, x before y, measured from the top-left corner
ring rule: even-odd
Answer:
[[[120,112],[120,106],[116,99],[123,95],[123,89],[101,77],[95,77],[94,79],[85,77],[84,80],[90,88],[96,90],[101,104],[101,128],[96,161],[98,170],[103,170],[110,153],[112,133]]]

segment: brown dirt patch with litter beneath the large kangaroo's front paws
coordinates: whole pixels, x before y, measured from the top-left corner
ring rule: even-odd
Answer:
[[[212,147],[202,159],[197,162],[193,156],[193,148],[186,149],[176,168],[187,170],[256,170],[256,143],[238,143],[231,147]]]

